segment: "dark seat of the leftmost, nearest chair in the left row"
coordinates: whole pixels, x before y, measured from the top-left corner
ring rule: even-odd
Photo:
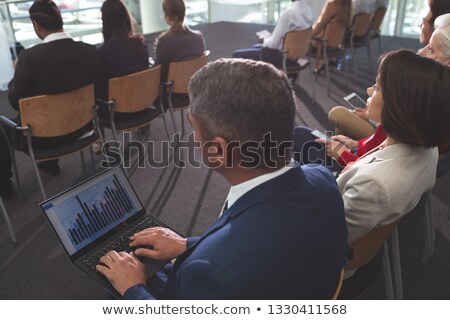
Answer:
[[[33,148],[34,156],[37,161],[62,158],[90,146],[99,139],[99,135],[91,131],[87,136],[82,136],[73,142],[64,143],[55,147]]]

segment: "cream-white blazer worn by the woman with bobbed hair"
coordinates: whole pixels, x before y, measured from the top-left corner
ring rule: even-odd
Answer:
[[[414,209],[436,181],[437,148],[394,144],[369,153],[342,173],[348,243]]]

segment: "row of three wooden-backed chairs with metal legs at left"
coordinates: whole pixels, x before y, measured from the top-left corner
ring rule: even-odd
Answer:
[[[168,81],[161,83],[161,66],[117,77],[109,80],[108,101],[95,100],[94,85],[90,84],[76,90],[55,94],[24,98],[19,101],[22,126],[10,119],[0,116],[5,125],[26,136],[27,153],[29,154],[39,187],[44,199],[47,198],[37,164],[49,160],[60,159],[72,153],[81,153],[85,167],[83,150],[90,149],[97,141],[105,142],[104,129],[110,129],[118,141],[118,133],[133,131],[150,126],[153,120],[162,118],[170,140],[169,129],[165,119],[165,111],[169,110],[174,130],[178,132],[174,120],[174,111],[189,106],[188,84],[192,75],[206,65],[209,51],[202,56],[181,62],[171,63]],[[167,104],[163,104],[167,96]],[[174,98],[177,99],[174,99]],[[99,118],[98,108],[106,108],[107,118]],[[120,116],[117,116],[120,113]],[[183,134],[184,117],[182,116]],[[62,137],[93,123],[92,129],[75,141],[56,147],[33,147],[33,138]],[[19,190],[20,179],[17,172],[15,152],[9,143],[13,160],[14,175]],[[93,161],[92,161],[93,162]],[[94,162],[93,162],[94,163]]]

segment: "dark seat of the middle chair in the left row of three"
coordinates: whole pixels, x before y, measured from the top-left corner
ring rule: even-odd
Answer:
[[[133,113],[117,113],[114,116],[114,124],[117,131],[125,131],[128,129],[143,126],[150,123],[161,115],[161,110],[156,107],[146,108],[139,112]],[[111,128],[109,119],[104,117],[100,118],[100,125],[104,128]]]

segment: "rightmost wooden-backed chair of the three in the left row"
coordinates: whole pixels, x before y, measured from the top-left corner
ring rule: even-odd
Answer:
[[[169,65],[167,82],[164,83],[165,93],[167,93],[167,103],[169,105],[170,116],[175,132],[179,132],[175,124],[174,111],[181,110],[181,126],[184,136],[184,113],[183,110],[189,107],[188,86],[194,73],[205,66],[208,62],[209,51],[205,51],[198,58],[172,62]]]

